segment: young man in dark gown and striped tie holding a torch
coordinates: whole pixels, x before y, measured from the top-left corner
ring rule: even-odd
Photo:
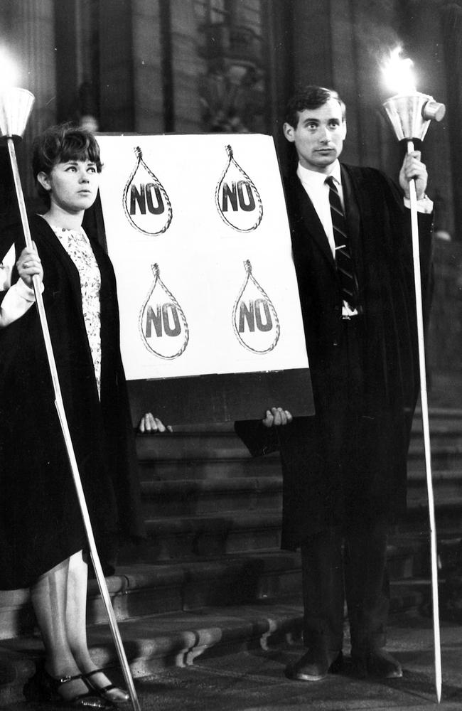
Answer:
[[[358,675],[400,677],[384,648],[387,528],[406,508],[419,389],[406,205],[414,178],[426,285],[433,207],[426,169],[417,151],[405,156],[401,192],[380,171],[340,164],[345,105],[322,87],[291,99],[284,135],[299,159],[285,191],[316,410],[293,418],[274,407],[263,420],[281,451],[281,545],[301,548],[308,651],[286,672],[316,681],[338,670],[346,597]],[[249,431],[236,429],[255,453]]]

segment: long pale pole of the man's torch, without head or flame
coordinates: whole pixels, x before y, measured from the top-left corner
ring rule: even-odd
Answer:
[[[414,141],[407,141],[407,152],[414,151]],[[419,370],[420,370],[420,401],[422,410],[422,424],[424,428],[424,450],[425,450],[425,471],[426,489],[429,501],[429,523],[430,523],[430,550],[431,550],[431,597],[433,602],[433,630],[434,630],[434,656],[435,656],[435,688],[438,703],[441,701],[441,641],[439,634],[439,602],[438,602],[438,557],[436,552],[436,523],[435,504],[433,496],[433,483],[431,480],[431,450],[430,450],[430,427],[429,427],[429,405],[426,393],[426,366],[425,366],[425,346],[424,346],[424,316],[422,314],[422,292],[420,273],[420,247],[419,247],[419,223],[417,220],[417,191],[415,181],[409,183],[409,200],[411,203],[411,227],[412,227],[412,254],[414,258],[414,285],[416,293],[417,309],[417,338],[419,341]]]

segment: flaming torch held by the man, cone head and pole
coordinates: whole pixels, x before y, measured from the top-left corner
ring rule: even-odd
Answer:
[[[395,96],[384,102],[383,107],[399,141],[407,142],[407,152],[414,151],[414,140],[422,141],[429,128],[431,119],[441,121],[446,109],[433,97],[417,92],[412,79],[412,60],[400,60],[400,49],[395,50],[390,63],[385,68],[387,75],[394,75],[399,80],[400,90]],[[411,208],[412,252],[414,260],[414,285],[417,309],[417,338],[419,342],[419,371],[422,424],[424,430],[424,450],[426,468],[426,488],[429,500],[430,550],[431,550],[431,592],[433,602],[435,686],[438,703],[441,700],[441,644],[439,634],[438,603],[438,560],[436,555],[436,525],[433,485],[431,480],[431,452],[429,409],[426,393],[426,367],[424,349],[424,319],[422,314],[421,274],[419,256],[419,225],[417,221],[417,192],[415,181],[409,183],[409,201]]]

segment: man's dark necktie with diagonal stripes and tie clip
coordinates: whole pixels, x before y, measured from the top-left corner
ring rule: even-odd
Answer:
[[[329,203],[331,205],[333,238],[335,242],[335,264],[340,277],[342,298],[350,306],[358,306],[358,280],[350,253],[348,228],[343,213],[342,203],[338,194],[335,178],[328,176],[325,183],[329,186]]]

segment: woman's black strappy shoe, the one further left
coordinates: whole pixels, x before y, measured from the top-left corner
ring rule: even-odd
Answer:
[[[85,683],[89,689],[87,693],[78,694],[70,699],[65,699],[61,696],[58,692],[60,686],[77,679],[82,679]],[[90,691],[90,685],[87,684],[82,674],[76,674],[75,676],[63,676],[62,678],[55,679],[53,676],[48,674],[48,671],[43,666],[38,668],[36,673],[28,681],[26,681],[23,687],[23,695],[26,698],[26,701],[51,701],[53,703],[59,703],[60,706],[69,708],[107,710],[115,708],[112,702],[104,699],[100,695],[95,695],[94,692]]]

